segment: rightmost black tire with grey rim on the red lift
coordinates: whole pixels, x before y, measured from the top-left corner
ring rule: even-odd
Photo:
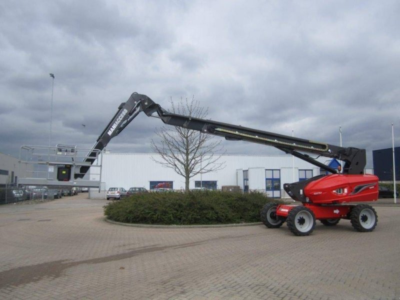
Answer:
[[[375,229],[378,216],[375,209],[368,204],[355,205],[350,211],[350,222],[359,232],[369,232]]]

